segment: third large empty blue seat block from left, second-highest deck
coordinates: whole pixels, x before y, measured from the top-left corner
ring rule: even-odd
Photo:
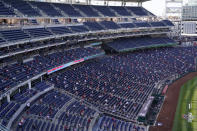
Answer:
[[[67,34],[72,33],[67,27],[60,26],[60,27],[49,27],[49,29],[55,34]]]

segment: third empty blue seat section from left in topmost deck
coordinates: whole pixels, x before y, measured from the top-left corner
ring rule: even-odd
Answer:
[[[40,10],[42,10],[48,16],[62,16],[60,12],[58,12],[50,3],[47,2],[31,2],[34,6],[37,6]]]

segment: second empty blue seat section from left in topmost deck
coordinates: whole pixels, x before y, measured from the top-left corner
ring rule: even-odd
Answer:
[[[5,0],[8,4],[12,5],[18,11],[23,13],[25,16],[32,17],[32,16],[41,16],[40,13],[32,8],[26,1],[22,0]]]

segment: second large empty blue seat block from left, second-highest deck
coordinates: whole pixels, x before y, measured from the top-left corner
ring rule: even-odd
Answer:
[[[51,32],[47,31],[45,28],[25,29],[25,31],[29,32],[33,37],[45,37],[52,35]]]

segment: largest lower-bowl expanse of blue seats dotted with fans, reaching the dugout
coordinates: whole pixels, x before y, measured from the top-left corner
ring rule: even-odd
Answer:
[[[101,111],[135,120],[160,80],[195,70],[196,47],[159,48],[106,56],[50,78],[57,88]]]

